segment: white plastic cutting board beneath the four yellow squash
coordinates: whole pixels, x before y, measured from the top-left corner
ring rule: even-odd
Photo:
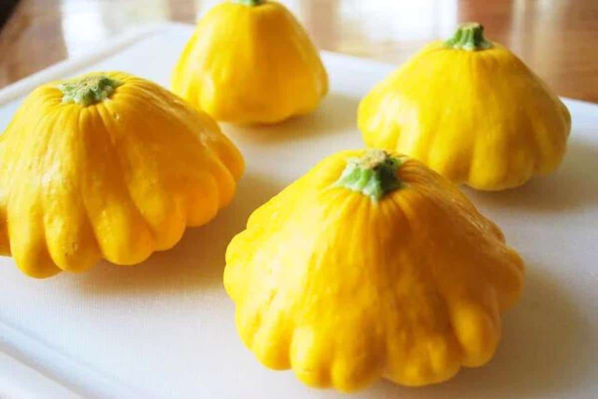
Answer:
[[[1,90],[0,129],[26,93],[55,78],[120,69],[166,86],[191,30],[138,32]],[[234,202],[174,249],[136,267],[102,263],[42,281],[0,257],[0,397],[344,397],[260,366],[237,338],[222,287],[226,245],[250,212],[323,157],[362,146],[359,99],[393,66],[323,56],[331,93],[316,112],[260,129],[222,126],[245,156],[245,176]],[[527,264],[495,359],[441,385],[380,382],[353,398],[598,397],[598,106],[566,103],[573,132],[556,173],[502,193],[465,190]]]

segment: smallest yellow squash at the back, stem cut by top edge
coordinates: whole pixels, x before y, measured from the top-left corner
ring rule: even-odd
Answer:
[[[199,20],[171,86],[216,120],[270,124],[315,109],[328,92],[328,76],[284,5],[233,0]]]

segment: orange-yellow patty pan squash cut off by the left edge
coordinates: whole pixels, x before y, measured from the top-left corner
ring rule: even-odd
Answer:
[[[0,252],[37,278],[139,263],[212,219],[242,171],[215,121],[155,83],[44,84],[0,136]]]

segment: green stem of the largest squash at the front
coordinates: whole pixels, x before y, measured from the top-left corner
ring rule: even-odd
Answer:
[[[347,166],[335,182],[335,187],[358,191],[374,201],[402,187],[396,175],[401,159],[390,156],[386,151],[367,150],[359,158],[347,160]]]

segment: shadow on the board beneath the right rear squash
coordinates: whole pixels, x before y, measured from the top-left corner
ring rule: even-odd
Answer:
[[[547,176],[535,176],[521,187],[489,192],[467,189],[468,196],[487,206],[523,208],[530,212],[559,212],[598,203],[598,146],[571,140],[562,165]]]

